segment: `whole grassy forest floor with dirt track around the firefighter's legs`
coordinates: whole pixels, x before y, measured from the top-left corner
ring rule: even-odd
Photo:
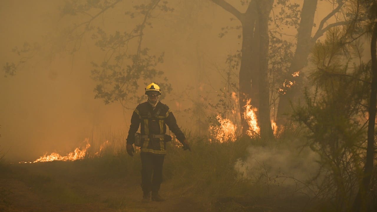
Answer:
[[[265,167],[261,173],[255,169],[253,179],[239,177],[234,164],[247,158],[251,142],[198,140],[192,152],[169,144],[160,189],[166,202],[142,203],[139,154],[114,154],[110,148],[77,161],[0,160],[0,212],[316,212],[328,207],[302,183],[274,180]]]

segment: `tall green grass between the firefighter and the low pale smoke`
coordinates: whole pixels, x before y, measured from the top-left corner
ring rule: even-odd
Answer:
[[[164,165],[166,178],[203,198],[235,195],[243,184],[237,180],[234,164],[247,156],[249,143],[250,139],[219,143],[197,138],[192,140],[192,152],[183,152],[172,142]]]

